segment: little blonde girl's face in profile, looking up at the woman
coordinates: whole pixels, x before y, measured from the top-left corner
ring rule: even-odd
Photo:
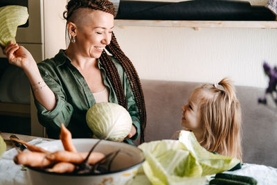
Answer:
[[[201,112],[199,104],[203,97],[203,90],[193,91],[190,94],[188,99],[188,104],[184,105],[182,108],[183,116],[181,118],[181,125],[187,130],[193,132],[202,132],[202,123],[201,123]]]

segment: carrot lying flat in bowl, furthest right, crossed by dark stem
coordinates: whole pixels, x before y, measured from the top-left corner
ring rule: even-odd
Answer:
[[[80,164],[84,159],[86,159],[89,152],[69,152],[69,151],[56,151],[49,155],[46,155],[46,158],[51,161],[63,161],[63,162],[70,162],[75,164]],[[92,152],[89,156],[88,163],[89,164],[96,164],[96,162],[100,161],[101,159],[105,158],[105,155],[100,152]]]

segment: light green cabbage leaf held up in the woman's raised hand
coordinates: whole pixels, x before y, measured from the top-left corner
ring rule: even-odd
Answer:
[[[6,46],[10,41],[15,43],[17,26],[28,20],[25,6],[3,6],[0,8],[0,44]]]

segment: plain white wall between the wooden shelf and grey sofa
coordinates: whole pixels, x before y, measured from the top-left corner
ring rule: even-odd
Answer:
[[[265,5],[267,1],[251,1]],[[262,63],[277,64],[277,30],[116,26],[114,33],[140,78],[267,87]]]

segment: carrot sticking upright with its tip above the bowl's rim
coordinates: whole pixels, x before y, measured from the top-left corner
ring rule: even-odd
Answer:
[[[75,146],[72,143],[71,132],[64,126],[64,123],[61,123],[60,140],[62,141],[64,150],[69,152],[77,152]]]

